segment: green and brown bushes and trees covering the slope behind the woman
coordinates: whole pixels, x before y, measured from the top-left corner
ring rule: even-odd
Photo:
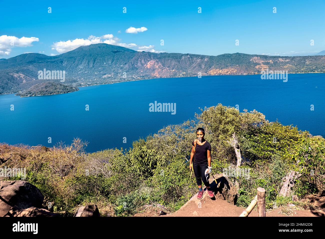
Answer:
[[[0,145],[0,158],[8,159],[6,166],[26,167],[25,180],[41,190],[45,204],[54,202],[55,210],[67,216],[86,204],[112,207],[117,216],[130,216],[154,203],[179,209],[197,192],[188,161],[198,127],[205,128],[212,146],[213,173],[236,164],[227,141],[233,133],[238,138],[240,168],[249,169],[250,177],[229,177],[240,185],[237,206],[247,207],[257,187],[266,189],[267,209],[292,203],[290,197],[279,195],[290,170],[301,175],[293,188],[298,197],[325,190],[323,138],[270,123],[255,110],[239,112],[221,104],[200,110],[195,120],[164,127],[134,141],[129,150],[85,153],[86,143],[75,139],[72,145],[59,143],[53,149]]]

